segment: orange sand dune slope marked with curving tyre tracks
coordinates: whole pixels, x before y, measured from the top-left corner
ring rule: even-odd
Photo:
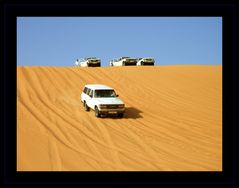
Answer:
[[[124,118],[85,112],[115,88]],[[222,66],[17,67],[17,170],[222,170]]]

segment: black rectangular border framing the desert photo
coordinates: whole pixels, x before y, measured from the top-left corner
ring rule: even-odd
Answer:
[[[80,11],[79,11],[80,10]],[[144,10],[141,12],[140,10]],[[235,3],[4,3],[3,80],[4,184],[236,184],[236,14]],[[223,18],[223,171],[222,172],[17,172],[16,171],[16,18],[21,16],[189,16]],[[14,118],[13,118],[14,117]]]

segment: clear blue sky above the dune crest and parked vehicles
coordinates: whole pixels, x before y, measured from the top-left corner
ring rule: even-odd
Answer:
[[[222,64],[221,17],[18,17],[18,66],[73,66],[99,57],[157,65]]]

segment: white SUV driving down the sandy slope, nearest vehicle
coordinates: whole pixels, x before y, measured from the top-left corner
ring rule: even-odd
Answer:
[[[95,111],[96,117],[101,115],[115,114],[122,118],[125,112],[125,105],[122,100],[117,98],[113,88],[99,84],[85,85],[81,93],[81,102],[84,109],[90,108]]]

